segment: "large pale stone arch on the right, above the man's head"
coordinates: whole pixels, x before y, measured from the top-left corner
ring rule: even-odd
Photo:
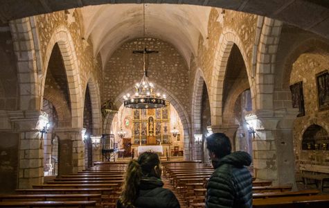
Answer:
[[[229,60],[229,55],[233,44],[238,46],[244,65],[246,66],[248,77],[250,73],[250,64],[247,58],[247,53],[240,40],[238,34],[231,28],[224,28],[223,33],[220,35],[220,44],[218,44],[215,54],[215,61],[213,64],[213,75],[211,78],[211,125],[222,124],[222,96],[224,89],[224,78],[226,73],[226,66]],[[251,82],[250,82],[251,83]]]

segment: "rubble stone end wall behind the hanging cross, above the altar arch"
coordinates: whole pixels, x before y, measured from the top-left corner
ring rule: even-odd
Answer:
[[[151,37],[127,42],[112,54],[104,69],[103,101],[114,101],[141,81],[143,54],[132,51],[143,51],[144,42],[146,49],[159,51],[146,55],[149,81],[154,83],[155,90],[158,85],[166,89],[188,110],[189,71],[184,58],[171,44]]]

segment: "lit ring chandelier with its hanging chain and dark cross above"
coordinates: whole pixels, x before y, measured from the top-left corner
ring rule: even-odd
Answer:
[[[143,35],[145,37],[145,5],[143,4]],[[143,78],[140,83],[135,85],[135,93],[133,95],[127,94],[123,96],[123,105],[129,108],[150,109],[159,108],[166,105],[166,94],[154,92],[154,85],[148,81],[148,71],[145,68],[145,53],[152,53],[156,51],[147,51],[144,45],[144,50],[135,51],[136,53],[143,53]]]

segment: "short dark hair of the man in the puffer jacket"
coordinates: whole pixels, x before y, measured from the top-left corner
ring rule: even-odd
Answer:
[[[222,158],[231,154],[231,141],[223,133],[214,133],[206,137],[207,149],[215,153],[216,157]]]

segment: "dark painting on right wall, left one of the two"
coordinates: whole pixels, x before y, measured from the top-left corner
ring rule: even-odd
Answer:
[[[299,109],[297,116],[304,116],[303,82],[290,85],[290,92],[292,93],[292,107]]]

